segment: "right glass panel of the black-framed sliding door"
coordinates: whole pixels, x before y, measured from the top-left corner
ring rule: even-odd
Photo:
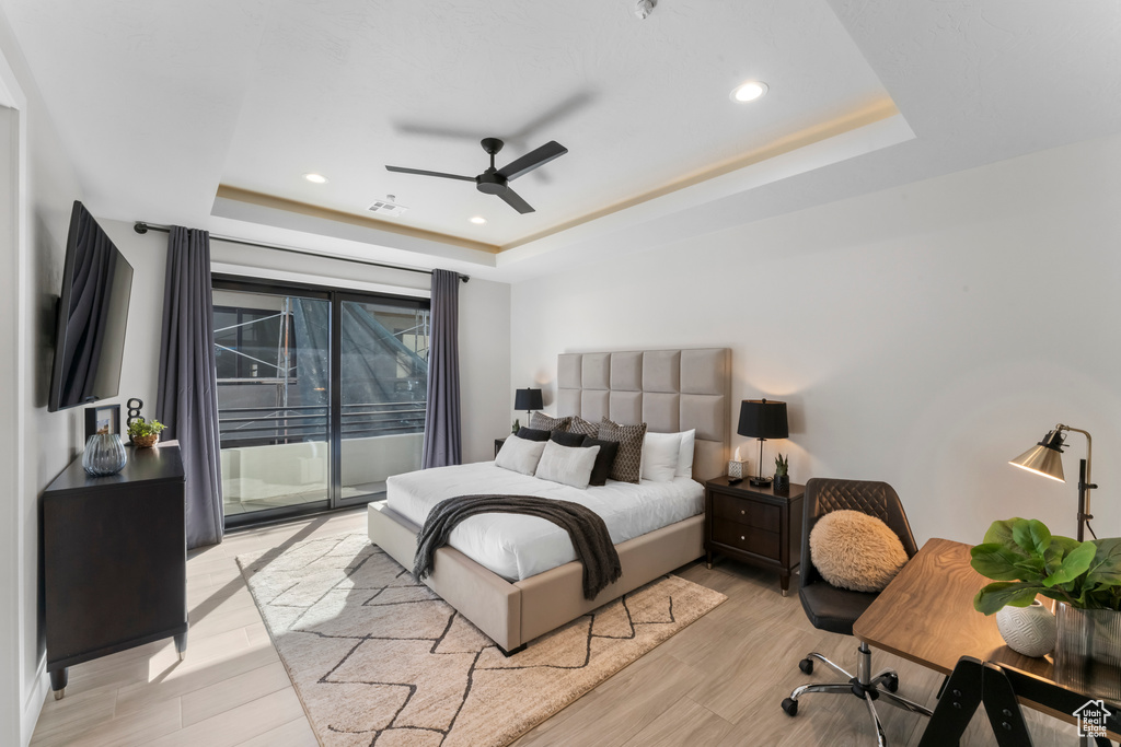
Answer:
[[[428,304],[344,298],[340,307],[340,503],[385,494],[420,468],[428,390]]]

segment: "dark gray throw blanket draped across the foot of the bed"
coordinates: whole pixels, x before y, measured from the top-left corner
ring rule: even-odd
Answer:
[[[437,503],[417,536],[413,575],[423,579],[432,572],[438,548],[447,544],[452,530],[475,514],[526,514],[550,521],[572,539],[576,560],[584,564],[584,598],[594,599],[622,575],[619,553],[599,514],[578,503],[534,495],[461,495]]]

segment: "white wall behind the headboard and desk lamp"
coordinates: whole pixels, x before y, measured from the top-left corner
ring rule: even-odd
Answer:
[[[1078,143],[518,283],[512,381],[552,409],[558,353],[729,346],[732,422],[786,400],[768,455],[891,483],[920,541],[1012,515],[1073,535],[1084,439],[1067,485],[1006,464],[1064,422],[1094,436],[1095,526],[1119,535],[1119,162],[1121,137]]]

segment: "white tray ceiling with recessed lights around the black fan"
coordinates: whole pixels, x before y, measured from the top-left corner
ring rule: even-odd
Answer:
[[[1114,0],[632,6],[0,0],[95,215],[499,280],[1121,131]],[[569,149],[536,213],[383,168],[473,176],[487,136]]]

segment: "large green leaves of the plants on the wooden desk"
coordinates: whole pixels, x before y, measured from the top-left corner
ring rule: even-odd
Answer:
[[[970,554],[973,569],[995,581],[973,598],[985,615],[1027,607],[1040,594],[1078,609],[1121,611],[1121,538],[1078,542],[1017,517],[993,522]]]

